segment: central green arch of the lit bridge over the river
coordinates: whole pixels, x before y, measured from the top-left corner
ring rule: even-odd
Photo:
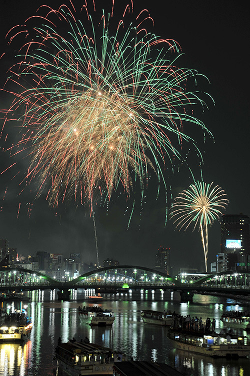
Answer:
[[[155,269],[151,269],[151,268],[148,268],[148,267],[142,267],[142,266],[138,266],[138,265],[118,265],[118,266],[106,266],[104,268],[98,268],[96,270],[91,270],[91,271],[88,271],[84,274],[81,274],[77,278],[72,279],[71,281],[65,282],[65,285],[80,282],[81,280],[86,279],[87,277],[92,276],[92,275],[95,276],[96,274],[97,275],[105,274],[105,272],[107,272],[107,271],[113,271],[113,273],[115,273],[115,271],[117,272],[118,270],[124,270],[125,274],[126,274],[126,270],[128,270],[128,269],[133,269],[133,271],[135,271],[136,274],[137,274],[138,271],[144,272],[144,275],[146,273],[152,273],[152,274],[155,274],[155,276],[160,276],[160,278],[163,278],[165,281],[168,281],[169,283],[173,283],[174,285],[181,285],[180,281],[178,281],[175,278],[172,278],[170,275],[168,275],[164,272],[160,272],[160,271],[155,270]],[[136,274],[135,274],[135,279],[136,279]]]

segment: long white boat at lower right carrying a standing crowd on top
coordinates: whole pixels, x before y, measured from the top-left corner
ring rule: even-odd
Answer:
[[[170,328],[167,338],[175,348],[202,355],[230,358],[250,355],[250,341],[243,336]]]

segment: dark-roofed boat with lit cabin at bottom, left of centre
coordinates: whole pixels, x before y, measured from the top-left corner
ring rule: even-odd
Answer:
[[[57,376],[84,376],[113,374],[113,363],[126,360],[124,354],[108,347],[83,341],[58,342],[55,348]]]

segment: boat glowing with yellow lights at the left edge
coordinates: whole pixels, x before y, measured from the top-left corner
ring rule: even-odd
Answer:
[[[25,341],[32,325],[27,316],[20,311],[5,315],[0,327],[0,342]]]

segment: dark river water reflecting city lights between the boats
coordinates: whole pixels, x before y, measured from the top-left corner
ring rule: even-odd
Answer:
[[[177,350],[166,337],[166,328],[143,324],[142,309],[153,309],[190,314],[216,320],[216,331],[223,327],[219,318],[225,310],[249,310],[245,300],[234,300],[221,296],[194,294],[192,303],[181,303],[179,294],[171,292],[130,292],[128,294],[102,295],[101,302],[89,302],[87,296],[94,291],[73,291],[71,301],[57,301],[55,291],[33,291],[30,301],[23,302],[27,314],[32,318],[33,328],[29,340],[23,345],[0,344],[0,376],[45,376],[54,375],[54,348],[60,336],[62,342],[75,337],[87,336],[90,342],[98,343],[124,352],[128,358],[164,362],[185,376],[248,376],[250,359],[213,359],[191,352]],[[19,309],[20,303],[4,302]],[[90,327],[80,323],[79,305],[100,305],[111,309],[115,321],[109,327]],[[241,335],[249,335],[241,331]],[[249,354],[250,355],[250,354]]]

